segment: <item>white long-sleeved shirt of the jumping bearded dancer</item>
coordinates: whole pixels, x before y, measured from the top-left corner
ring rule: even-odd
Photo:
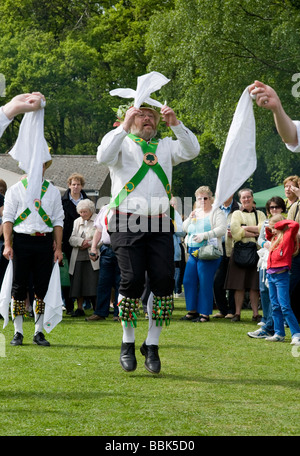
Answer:
[[[156,149],[158,163],[163,168],[170,185],[172,185],[173,166],[192,160],[200,151],[196,136],[182,123],[171,128],[177,139],[173,140],[170,137],[160,139]],[[97,160],[109,167],[112,200],[140,169],[143,156],[141,147],[127,136],[122,125],[104,136],[98,147]],[[155,172],[149,169],[140,184],[128,194],[118,209],[126,213],[147,216],[162,214],[168,208],[169,199],[166,190]]]

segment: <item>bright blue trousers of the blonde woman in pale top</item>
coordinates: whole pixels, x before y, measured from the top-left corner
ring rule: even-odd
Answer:
[[[189,259],[186,263],[183,286],[187,310],[196,310],[199,314],[210,315],[213,311],[214,277],[220,265],[217,260],[199,260],[191,252],[197,249],[189,248]]]

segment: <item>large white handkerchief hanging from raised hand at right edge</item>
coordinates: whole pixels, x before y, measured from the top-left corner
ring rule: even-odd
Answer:
[[[223,151],[213,209],[222,205],[256,169],[255,118],[248,87],[236,107]]]

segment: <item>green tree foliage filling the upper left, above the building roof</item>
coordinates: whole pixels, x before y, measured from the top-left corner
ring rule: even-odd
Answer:
[[[42,91],[45,137],[53,153],[96,153],[115,120],[114,87],[134,87],[145,73],[145,30],[153,11],[170,2],[3,0],[0,72],[6,99]],[[18,123],[2,138],[8,150]]]

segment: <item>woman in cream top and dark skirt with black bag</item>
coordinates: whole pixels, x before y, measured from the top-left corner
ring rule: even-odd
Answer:
[[[265,214],[256,210],[253,206],[253,192],[248,188],[239,191],[239,198],[242,206],[240,210],[232,214],[231,235],[234,242],[255,242],[260,233]],[[234,252],[234,248],[233,248]],[[253,311],[253,321],[259,322],[261,316],[258,314],[259,303],[259,279],[257,265],[252,267],[241,267],[234,261],[233,253],[230,257],[225,288],[235,290],[235,316],[231,321],[240,321],[243,307],[245,290],[250,290],[250,302]]]

